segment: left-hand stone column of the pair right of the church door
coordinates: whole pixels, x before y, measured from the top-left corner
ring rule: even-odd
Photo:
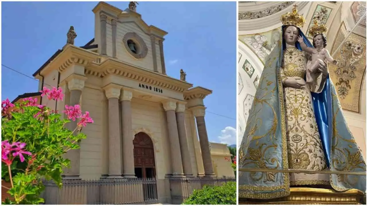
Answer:
[[[172,176],[183,177],[180,141],[178,139],[177,121],[175,114],[176,102],[163,102],[163,108],[164,110],[166,110],[167,115],[168,138],[170,139],[171,147]]]

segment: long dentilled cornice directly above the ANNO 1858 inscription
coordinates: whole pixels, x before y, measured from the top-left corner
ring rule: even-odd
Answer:
[[[154,71],[133,66],[115,58],[106,58],[106,60],[100,64],[91,63],[86,68],[85,73],[97,77],[104,77],[109,74],[117,74],[124,78],[156,85],[158,87],[170,89],[176,92],[183,92],[192,87],[192,84],[188,82],[183,82]]]

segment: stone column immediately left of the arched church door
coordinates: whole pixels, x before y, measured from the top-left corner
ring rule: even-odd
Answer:
[[[131,98],[132,91],[122,89],[121,94],[121,115],[122,115],[122,162],[123,174],[125,178],[135,178],[134,167],[134,136],[131,125]]]

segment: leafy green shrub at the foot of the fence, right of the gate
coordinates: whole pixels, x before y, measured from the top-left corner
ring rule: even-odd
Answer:
[[[182,205],[236,205],[236,182],[222,186],[204,185],[201,190],[194,190]]]

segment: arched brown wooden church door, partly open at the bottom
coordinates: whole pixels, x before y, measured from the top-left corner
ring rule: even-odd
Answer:
[[[139,132],[132,142],[134,144],[135,176],[138,178],[155,178],[156,165],[152,139],[146,133]]]

